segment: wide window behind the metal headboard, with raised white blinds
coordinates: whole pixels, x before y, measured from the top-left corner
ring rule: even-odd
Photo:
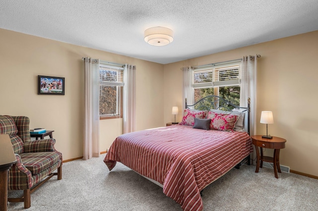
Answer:
[[[240,62],[207,65],[194,69],[192,75],[194,103],[216,95],[239,106]]]

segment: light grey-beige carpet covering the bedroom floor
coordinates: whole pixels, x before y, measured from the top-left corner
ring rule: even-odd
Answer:
[[[105,155],[63,164],[63,178],[52,177],[31,194],[27,211],[182,211],[162,188],[117,162],[109,171]],[[317,211],[318,180],[278,173],[255,165],[233,168],[203,191],[204,211]],[[8,196],[23,195],[8,191]],[[8,211],[24,210],[10,203]]]

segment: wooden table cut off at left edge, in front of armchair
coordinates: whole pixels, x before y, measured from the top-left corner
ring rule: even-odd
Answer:
[[[7,211],[8,171],[15,163],[12,144],[7,134],[0,134],[0,210]]]

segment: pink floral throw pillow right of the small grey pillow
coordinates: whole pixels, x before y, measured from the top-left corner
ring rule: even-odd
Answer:
[[[209,111],[207,116],[207,119],[211,119],[210,129],[222,131],[233,131],[238,118],[238,115],[215,113],[213,111]]]

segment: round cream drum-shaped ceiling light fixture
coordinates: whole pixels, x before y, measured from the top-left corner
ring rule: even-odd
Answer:
[[[166,46],[173,41],[173,31],[165,27],[152,27],[145,30],[144,40],[152,46]]]

